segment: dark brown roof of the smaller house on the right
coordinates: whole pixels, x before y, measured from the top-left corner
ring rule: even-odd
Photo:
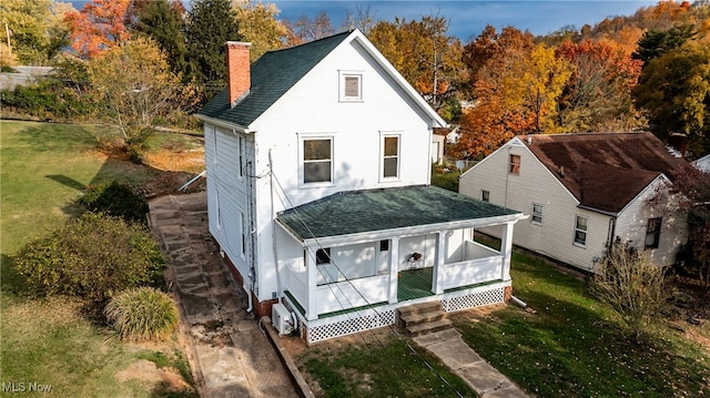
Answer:
[[[527,139],[521,137],[581,206],[602,212],[620,212],[660,174],[673,180],[674,172],[687,164],[670,155],[660,140],[646,132],[528,135]]]

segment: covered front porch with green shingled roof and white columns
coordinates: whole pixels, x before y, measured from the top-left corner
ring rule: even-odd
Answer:
[[[290,259],[280,264],[280,297],[310,327],[353,310],[442,300],[491,284],[503,289],[510,285],[513,228],[521,217],[435,186],[307,203],[276,218],[296,244],[281,256]],[[474,242],[476,228],[490,226],[503,229],[498,249]]]

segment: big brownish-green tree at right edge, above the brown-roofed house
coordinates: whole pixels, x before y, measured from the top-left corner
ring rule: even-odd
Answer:
[[[661,140],[684,133],[693,151],[710,147],[710,43],[688,42],[651,60],[632,95]]]

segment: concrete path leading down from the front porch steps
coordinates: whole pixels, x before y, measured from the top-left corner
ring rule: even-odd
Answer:
[[[510,380],[476,354],[455,329],[415,337],[414,341],[436,355],[481,398],[527,398]]]

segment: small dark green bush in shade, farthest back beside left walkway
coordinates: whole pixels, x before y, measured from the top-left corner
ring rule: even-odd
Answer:
[[[79,203],[94,213],[105,213],[128,222],[145,224],[149,212],[145,197],[136,194],[131,186],[119,182],[89,186]]]

